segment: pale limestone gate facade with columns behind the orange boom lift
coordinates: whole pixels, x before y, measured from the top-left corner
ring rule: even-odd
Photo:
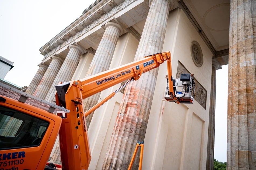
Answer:
[[[89,169],[127,169],[138,140],[144,141],[143,169],[208,168],[206,162],[213,159],[208,157],[213,154],[208,144],[214,142],[217,69],[212,50],[176,0],[97,2],[41,47],[41,65],[48,68],[38,69],[30,93],[49,88],[45,100],[53,102],[54,86],[60,81],[82,79],[150,54],[171,51],[173,75],[183,70],[194,74],[198,88],[194,104],[164,100],[166,64],[145,73],[124,94],[118,92],[95,110],[88,129],[92,154]],[[200,47],[200,60],[195,46],[191,48],[193,42]],[[50,77],[48,69],[56,57],[63,58],[63,64],[58,64],[51,85],[45,86],[43,80]],[[120,85],[85,103],[101,101]],[[52,153],[52,159],[58,162],[59,151]],[[138,161],[136,157],[134,169]]]

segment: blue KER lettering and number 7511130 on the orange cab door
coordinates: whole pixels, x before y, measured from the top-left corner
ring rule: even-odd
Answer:
[[[15,165],[23,164],[25,157],[24,151],[0,154],[0,170],[18,170]]]

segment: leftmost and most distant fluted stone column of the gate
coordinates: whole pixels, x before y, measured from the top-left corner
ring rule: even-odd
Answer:
[[[29,87],[26,90],[27,94],[34,94],[34,91],[36,90],[39,82],[41,81],[42,77],[44,76],[44,73],[47,69],[47,66],[44,63],[41,63],[38,65],[39,69],[36,72],[36,75],[34,76],[33,80],[29,84]]]

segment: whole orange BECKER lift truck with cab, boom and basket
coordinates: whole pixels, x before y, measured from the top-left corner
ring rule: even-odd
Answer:
[[[182,81],[174,79],[183,86],[180,90],[178,83],[173,82],[170,51],[146,56],[82,80],[59,83],[55,86],[56,104],[1,83],[0,170],[88,169],[91,154],[85,117],[128,83],[138,80],[142,73],[157,68],[164,61],[167,61],[169,75],[165,99],[177,104],[193,103],[193,95],[186,92],[186,87],[193,91],[191,76],[185,76]],[[82,99],[128,79],[124,86],[84,112]],[[177,95],[184,94],[177,97],[176,91]],[[62,164],[49,166],[48,159],[58,135]]]

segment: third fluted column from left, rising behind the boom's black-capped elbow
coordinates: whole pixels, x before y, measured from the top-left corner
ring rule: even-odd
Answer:
[[[79,59],[82,54],[84,54],[86,50],[84,50],[79,45],[71,45],[69,46],[69,52],[64,60],[57,76],[55,77],[53,83],[51,84],[51,87],[49,89],[49,92],[45,98],[48,102],[53,102],[55,100],[55,86],[59,82],[68,82],[71,80],[76,66],[78,65]]]

